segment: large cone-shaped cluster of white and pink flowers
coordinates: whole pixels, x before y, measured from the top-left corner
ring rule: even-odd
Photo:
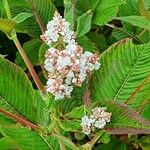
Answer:
[[[84,52],[69,26],[69,22],[55,12],[41,36],[49,45],[44,62],[48,71],[47,92],[52,93],[55,100],[71,97],[73,85],[81,86],[87,75],[100,67],[98,54]]]

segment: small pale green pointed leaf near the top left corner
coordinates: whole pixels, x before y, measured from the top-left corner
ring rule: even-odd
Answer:
[[[14,20],[16,23],[21,23],[21,22],[25,21],[26,19],[28,19],[28,18],[30,18],[30,17],[32,17],[32,16],[33,16],[33,14],[31,14],[31,13],[20,13],[20,14],[18,14],[17,16],[15,16],[15,17],[13,18],[13,20]]]

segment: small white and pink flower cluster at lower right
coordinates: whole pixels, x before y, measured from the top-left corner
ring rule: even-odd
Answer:
[[[95,131],[96,128],[102,129],[106,126],[107,122],[110,122],[111,113],[106,112],[106,107],[95,107],[92,109],[93,114],[88,117],[85,115],[82,117],[82,131],[89,135],[91,131]]]

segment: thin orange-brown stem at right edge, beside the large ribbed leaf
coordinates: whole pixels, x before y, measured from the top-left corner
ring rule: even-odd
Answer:
[[[125,104],[129,104],[137,93],[144,87],[144,85],[150,81],[150,75],[142,82],[142,84],[131,94],[131,96],[125,101]]]

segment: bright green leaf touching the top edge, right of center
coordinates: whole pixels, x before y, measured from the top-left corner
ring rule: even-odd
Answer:
[[[93,23],[102,26],[111,21],[117,15],[119,6],[124,2],[124,0],[109,0],[108,3],[106,0],[101,0],[95,10]]]

